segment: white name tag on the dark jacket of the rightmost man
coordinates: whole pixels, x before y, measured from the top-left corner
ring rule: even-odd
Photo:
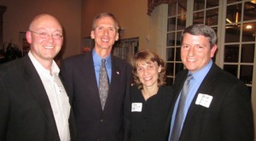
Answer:
[[[211,95],[199,93],[196,98],[195,104],[200,104],[204,107],[209,108],[210,104],[212,103],[212,99],[213,97]]]

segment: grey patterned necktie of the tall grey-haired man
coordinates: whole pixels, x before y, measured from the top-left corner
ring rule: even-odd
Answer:
[[[100,68],[100,76],[99,76],[99,93],[100,99],[102,103],[102,110],[104,110],[104,106],[108,97],[108,73],[105,67],[106,59],[102,59],[102,65]]]

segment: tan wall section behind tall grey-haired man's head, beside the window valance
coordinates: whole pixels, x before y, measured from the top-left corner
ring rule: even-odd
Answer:
[[[122,39],[139,37],[139,49],[157,49],[157,16],[149,16],[147,0],[84,0],[82,2],[82,37],[90,37],[93,18],[96,14],[110,12],[124,28]],[[157,9],[154,12],[158,12]]]

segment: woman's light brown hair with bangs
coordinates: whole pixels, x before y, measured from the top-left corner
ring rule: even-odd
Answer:
[[[150,61],[156,62],[157,65],[161,67],[161,71],[158,73],[158,86],[166,84],[166,63],[163,59],[160,58],[158,54],[155,54],[149,50],[141,50],[134,55],[131,65],[132,65],[132,74],[133,82],[137,85],[139,89],[143,89],[143,84],[140,82],[139,77],[137,76],[137,66],[139,62],[149,63]]]

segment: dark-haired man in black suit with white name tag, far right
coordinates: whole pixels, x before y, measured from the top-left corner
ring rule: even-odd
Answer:
[[[245,84],[212,62],[216,40],[207,25],[190,25],[183,31],[181,58],[186,70],[178,73],[173,86],[176,102],[169,141],[253,141],[250,94]]]

